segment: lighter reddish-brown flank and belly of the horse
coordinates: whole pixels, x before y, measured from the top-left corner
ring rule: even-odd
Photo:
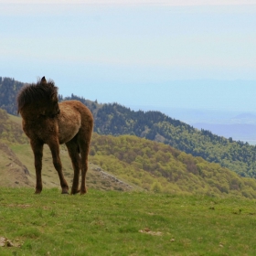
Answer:
[[[58,118],[59,144],[69,142],[80,131],[80,112],[60,108]]]

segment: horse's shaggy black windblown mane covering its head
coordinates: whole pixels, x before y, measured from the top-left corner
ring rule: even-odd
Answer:
[[[32,83],[24,86],[16,98],[17,112],[19,113],[27,104],[42,100],[51,101],[54,94],[58,94],[58,87],[55,86],[53,80],[47,81],[45,77],[38,80],[36,84]]]

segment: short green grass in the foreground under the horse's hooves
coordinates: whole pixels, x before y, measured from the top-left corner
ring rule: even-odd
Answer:
[[[33,191],[0,188],[0,255],[255,255],[254,200]]]

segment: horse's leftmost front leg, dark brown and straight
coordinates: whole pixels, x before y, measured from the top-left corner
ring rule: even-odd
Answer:
[[[39,141],[30,140],[30,145],[34,153],[36,176],[37,176],[35,194],[40,194],[43,189],[41,171],[42,171],[42,158],[43,158],[44,144]]]

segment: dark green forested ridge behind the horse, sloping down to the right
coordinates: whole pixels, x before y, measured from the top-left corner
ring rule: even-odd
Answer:
[[[21,86],[22,83],[15,80],[0,78],[0,105],[4,105],[9,113],[16,114],[16,92]],[[256,146],[235,142],[210,131],[199,131],[161,112],[134,112],[118,103],[99,104],[73,94],[66,98],[59,95],[59,101],[66,100],[81,101],[91,109],[96,133],[144,137],[201,156],[208,162],[219,163],[240,176],[256,177]]]

